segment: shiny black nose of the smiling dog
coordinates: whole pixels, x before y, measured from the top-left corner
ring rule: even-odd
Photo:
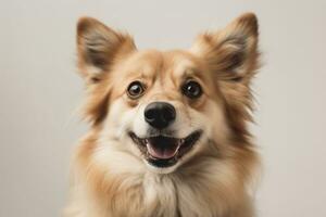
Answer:
[[[163,129],[175,120],[175,108],[166,102],[152,102],[145,108],[145,119],[152,127]]]

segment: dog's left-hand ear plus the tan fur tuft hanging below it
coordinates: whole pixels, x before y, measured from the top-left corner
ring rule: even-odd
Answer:
[[[136,51],[136,46],[130,36],[116,33],[95,18],[78,21],[77,63],[88,93],[83,116],[93,125],[101,123],[108,113],[111,88],[101,80],[108,80],[114,64],[133,51]]]

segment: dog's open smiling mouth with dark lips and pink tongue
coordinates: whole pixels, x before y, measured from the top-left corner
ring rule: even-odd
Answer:
[[[183,139],[166,136],[139,138],[134,132],[129,132],[129,136],[151,165],[170,167],[191,150],[201,133],[201,130],[197,130]]]

